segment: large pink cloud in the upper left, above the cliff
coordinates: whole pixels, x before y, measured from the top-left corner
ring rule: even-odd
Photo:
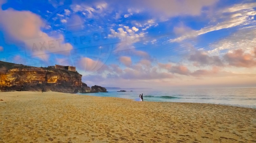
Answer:
[[[27,54],[43,60],[48,60],[48,53],[58,52],[66,55],[73,48],[69,43],[63,44],[63,35],[50,37],[41,31],[42,19],[30,11],[17,11],[10,8],[2,10],[0,8],[0,24],[10,41],[24,42]]]

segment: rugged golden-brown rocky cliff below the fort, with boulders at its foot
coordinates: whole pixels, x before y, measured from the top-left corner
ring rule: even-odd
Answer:
[[[64,93],[107,92],[104,87],[91,89],[78,72],[39,68],[0,61],[0,91],[56,91]]]

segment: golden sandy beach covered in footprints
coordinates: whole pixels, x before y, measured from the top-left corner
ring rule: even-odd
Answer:
[[[256,142],[256,110],[1,92],[0,142]]]

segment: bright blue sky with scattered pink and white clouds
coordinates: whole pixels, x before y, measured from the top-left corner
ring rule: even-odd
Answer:
[[[89,86],[256,87],[255,0],[0,0],[0,60]]]

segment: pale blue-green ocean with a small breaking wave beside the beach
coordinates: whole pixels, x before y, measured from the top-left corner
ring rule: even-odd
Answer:
[[[125,90],[125,89],[122,89]],[[153,89],[108,90],[107,93],[77,93],[101,97],[118,97],[136,100],[143,93],[145,102],[192,102],[213,103],[230,106],[240,106],[256,109],[256,87],[239,88],[189,88],[170,89],[169,91],[156,91]]]

